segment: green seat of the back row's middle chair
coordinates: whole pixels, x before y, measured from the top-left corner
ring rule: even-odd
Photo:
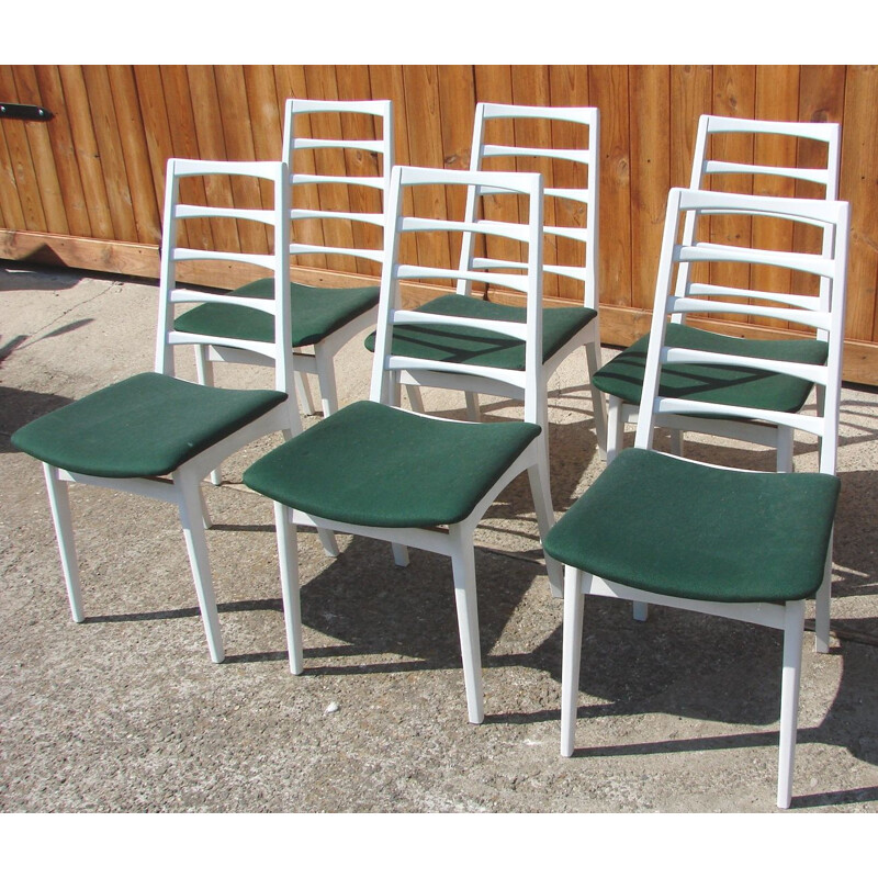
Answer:
[[[443,295],[417,311],[454,317],[481,317],[492,320],[525,323],[527,309],[513,305],[486,302],[472,295]],[[581,306],[543,308],[542,357],[549,360],[576,333],[595,317],[592,308]],[[369,350],[375,349],[375,334],[365,340]],[[459,326],[397,326],[393,330],[392,352],[399,357],[420,357],[451,363],[472,363],[496,369],[525,369],[525,342],[498,333],[484,333]]]

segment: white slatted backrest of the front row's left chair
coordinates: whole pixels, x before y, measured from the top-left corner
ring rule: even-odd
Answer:
[[[219,180],[210,178],[252,178],[264,180],[273,185],[273,206],[234,207],[211,206],[203,203],[185,203],[180,196],[180,182],[187,178],[205,178],[210,190],[211,183],[217,187]],[[277,390],[289,393],[294,398],[292,338],[290,320],[290,189],[288,185],[288,167],[284,161],[205,161],[199,159],[172,158],[168,161],[165,185],[165,218],[161,235],[161,273],[159,280],[159,318],[156,340],[156,371],[173,374],[173,352],[176,345],[211,345],[238,348],[254,351],[272,358]],[[194,188],[193,188],[194,189]],[[206,199],[200,200],[205,201]],[[222,221],[224,223],[259,223],[269,226],[271,233],[271,254],[250,251],[223,251],[206,247],[178,246],[178,234],[181,225],[188,221]],[[190,234],[190,243],[198,240],[198,235]],[[254,236],[240,236],[240,241],[254,239]],[[264,236],[262,236],[264,241]],[[274,296],[272,299],[255,299],[226,293],[211,293],[207,290],[187,289],[178,285],[177,266],[180,262],[195,260],[214,262],[244,262],[258,266],[272,273]],[[175,306],[216,302],[224,305],[241,305],[264,312],[274,318],[274,341],[260,342],[247,339],[216,338],[206,335],[181,333],[173,329]]]

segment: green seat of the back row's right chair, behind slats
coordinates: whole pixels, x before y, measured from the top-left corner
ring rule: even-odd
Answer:
[[[639,404],[649,344],[650,337],[646,335],[626,348],[595,373],[595,385],[627,403]],[[678,348],[814,364],[825,363],[829,352],[829,346],[817,339],[774,341],[733,338],[682,324],[668,324],[666,344]],[[804,405],[811,387],[809,381],[756,369],[682,363],[662,369],[658,393],[673,398],[798,412]]]

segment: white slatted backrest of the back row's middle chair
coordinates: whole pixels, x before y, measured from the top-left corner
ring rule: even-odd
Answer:
[[[550,128],[550,145],[541,137],[533,145],[513,145],[488,143],[488,125],[492,120],[556,123],[556,131]],[[500,131],[492,128],[496,139]],[[508,135],[510,128],[506,127]],[[480,103],[475,108],[473,123],[471,170],[491,170],[495,166],[485,165],[485,159],[507,157],[514,159],[518,169],[530,160],[527,170],[542,170],[545,185],[543,196],[543,233],[550,238],[544,243],[543,255],[554,252],[564,260],[543,262],[543,271],[560,278],[570,278],[578,286],[586,307],[598,306],[598,181],[599,181],[600,114],[595,106],[518,106],[515,104]],[[541,162],[541,164],[534,164]],[[577,167],[578,166],[578,167]],[[472,190],[468,193],[466,216],[474,218],[479,202],[491,195],[489,190]],[[492,258],[488,252],[474,257],[474,239],[464,236],[461,258],[470,267],[487,268],[510,266],[508,259]],[[461,281],[459,293],[469,293],[468,282]]]

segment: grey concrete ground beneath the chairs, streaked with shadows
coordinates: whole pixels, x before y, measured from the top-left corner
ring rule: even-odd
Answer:
[[[779,634],[622,601],[587,603],[577,751],[559,755],[562,604],[529,495],[480,530],[486,720],[466,722],[447,560],[301,538],[306,673],[286,664],[271,506],[240,474],[205,487],[227,660],[214,665],[176,510],[71,488],[87,620],[70,618],[40,464],[21,425],[151,368],[156,286],[0,263],[0,809],[3,812],[773,812]],[[180,372],[191,376],[188,356]],[[608,350],[607,357],[614,351]],[[340,359],[344,402],[370,356]],[[584,360],[553,379],[552,488],[563,513],[600,472]],[[269,385],[227,367],[229,385]],[[563,391],[563,392],[562,392]],[[435,410],[462,401],[427,396]],[[492,415],[515,415],[487,401]],[[833,648],[806,635],[791,812],[878,812],[878,396],[846,387]],[[315,423],[305,419],[305,426]],[[631,436],[629,435],[629,441]],[[709,460],[741,451],[693,439]],[[797,442],[797,466],[814,446]],[[809,622],[812,623],[809,614]]]

